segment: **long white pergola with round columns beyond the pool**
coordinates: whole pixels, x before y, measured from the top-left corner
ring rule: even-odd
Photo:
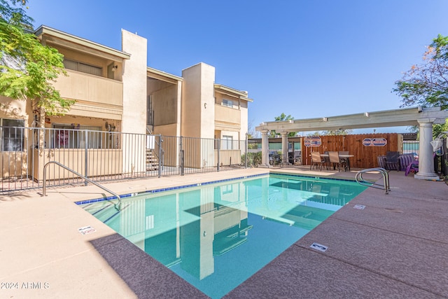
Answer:
[[[269,145],[267,134],[270,130],[281,134],[283,161],[288,157],[289,132],[316,132],[323,130],[364,129],[368,127],[401,127],[416,125],[420,129],[419,172],[416,179],[438,179],[434,172],[433,124],[443,124],[448,111],[440,107],[414,107],[387,111],[364,112],[345,116],[328,116],[301,120],[280,120],[260,123],[255,130],[261,132],[262,165],[269,167]]]

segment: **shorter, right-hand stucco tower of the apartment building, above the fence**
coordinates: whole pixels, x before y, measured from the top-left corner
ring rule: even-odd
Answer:
[[[214,138],[215,68],[201,62],[184,69],[182,76],[181,134]]]

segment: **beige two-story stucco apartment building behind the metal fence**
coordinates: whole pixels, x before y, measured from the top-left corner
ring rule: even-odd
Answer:
[[[54,85],[63,98],[76,100],[64,116],[43,116],[31,101],[0,97],[0,127],[58,130],[34,148],[83,148],[87,141],[73,138],[73,130],[150,133],[226,141],[246,139],[248,103],[252,99],[245,91],[216,84],[215,68],[208,64],[201,62],[183,69],[182,76],[148,67],[147,40],[126,30],[122,30],[121,50],[46,26],[39,27],[34,34],[41,43],[64,55],[66,76],[59,76]],[[6,130],[3,128],[4,132]],[[22,148],[22,139],[31,137],[18,137],[11,130],[8,134],[4,132],[3,155],[19,148],[20,155],[24,155],[22,160],[26,160],[25,152],[30,149]],[[66,140],[64,132],[71,134],[69,140]],[[90,145],[106,144],[105,140],[92,138],[88,142]],[[126,156],[123,153],[123,157]],[[10,155],[7,160],[10,160]],[[204,159],[201,157],[201,160]],[[12,163],[15,162],[8,162],[10,169]],[[216,161],[213,163],[216,165]],[[21,166],[14,165],[13,168],[23,167],[23,164],[20,162]],[[123,167],[126,165],[123,160]],[[5,167],[3,164],[3,177],[17,172],[5,171]],[[41,173],[41,166],[36,169],[35,172]],[[118,172],[125,170],[119,169]]]

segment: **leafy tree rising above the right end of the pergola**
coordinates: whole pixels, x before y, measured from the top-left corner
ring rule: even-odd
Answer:
[[[423,63],[413,65],[395,82],[403,106],[441,106],[448,109],[448,36],[438,35],[423,54]]]

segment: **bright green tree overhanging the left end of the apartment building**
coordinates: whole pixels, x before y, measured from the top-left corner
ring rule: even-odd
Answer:
[[[48,115],[63,114],[74,104],[52,85],[65,75],[63,55],[31,33],[33,20],[25,13],[26,4],[0,0],[0,95],[31,100]]]

